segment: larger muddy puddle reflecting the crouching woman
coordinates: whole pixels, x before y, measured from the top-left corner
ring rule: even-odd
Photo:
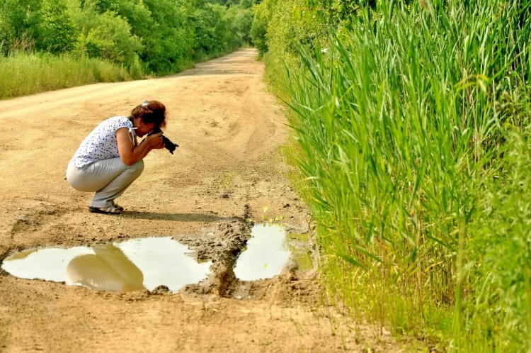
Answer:
[[[28,250],[6,257],[2,269],[23,279],[64,281],[103,291],[167,286],[178,291],[202,281],[211,262],[198,263],[171,237],[132,239],[69,249]]]

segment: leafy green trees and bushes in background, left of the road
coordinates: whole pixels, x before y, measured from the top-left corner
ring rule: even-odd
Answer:
[[[72,52],[171,74],[249,43],[252,0],[0,0],[0,52]]]

